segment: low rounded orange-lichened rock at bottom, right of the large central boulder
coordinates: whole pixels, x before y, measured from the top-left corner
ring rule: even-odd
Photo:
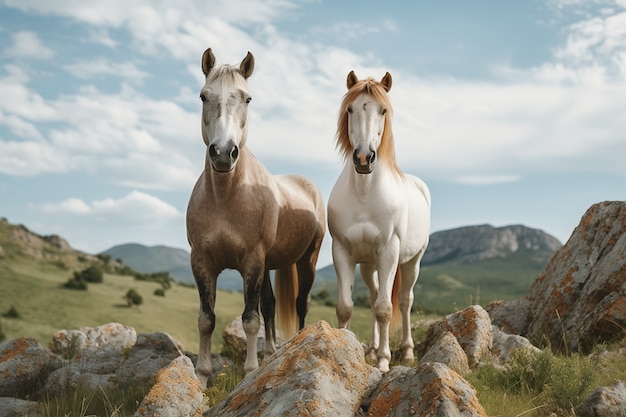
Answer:
[[[487,417],[474,388],[437,362],[392,368],[364,408],[360,416]]]

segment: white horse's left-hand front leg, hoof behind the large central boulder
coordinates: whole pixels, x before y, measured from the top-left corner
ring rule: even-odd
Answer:
[[[336,310],[338,326],[346,328],[354,308],[352,287],[354,286],[354,267],[356,264],[345,248],[335,240],[333,240],[333,264],[335,265],[337,284],[339,286]]]

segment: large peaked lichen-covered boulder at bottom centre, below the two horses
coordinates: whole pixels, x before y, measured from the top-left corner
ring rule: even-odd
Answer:
[[[366,364],[353,333],[320,321],[293,336],[204,415],[352,417],[381,376]]]

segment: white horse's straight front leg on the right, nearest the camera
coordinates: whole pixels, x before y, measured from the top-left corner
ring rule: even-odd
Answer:
[[[383,372],[389,371],[389,362],[391,361],[391,349],[389,348],[389,324],[391,323],[391,315],[393,306],[391,304],[391,291],[393,281],[396,276],[398,267],[397,250],[386,250],[377,261],[378,270],[378,297],[374,302],[373,309],[376,315],[380,331],[380,346],[376,352],[378,358],[377,368]]]

